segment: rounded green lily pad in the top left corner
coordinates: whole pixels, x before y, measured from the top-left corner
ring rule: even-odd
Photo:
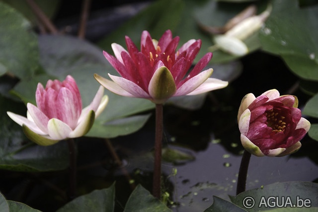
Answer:
[[[0,20],[0,75],[29,78],[39,66],[36,35],[29,21],[3,2],[0,2]]]

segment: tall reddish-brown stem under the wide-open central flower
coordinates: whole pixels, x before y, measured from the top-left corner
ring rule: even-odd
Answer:
[[[162,104],[156,104],[156,134],[155,134],[155,163],[153,179],[153,195],[160,199],[161,196],[161,142],[162,142]]]

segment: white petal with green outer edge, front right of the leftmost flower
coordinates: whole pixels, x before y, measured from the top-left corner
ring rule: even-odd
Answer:
[[[95,113],[93,110],[90,110],[88,113],[86,113],[86,116],[82,118],[81,122],[79,122],[74,131],[68,135],[68,138],[79,138],[88,133],[94,123],[94,117]]]

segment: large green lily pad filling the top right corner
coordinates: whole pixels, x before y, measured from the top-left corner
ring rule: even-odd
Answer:
[[[298,0],[274,0],[260,33],[264,51],[280,55],[298,76],[318,80],[318,6],[300,8]]]

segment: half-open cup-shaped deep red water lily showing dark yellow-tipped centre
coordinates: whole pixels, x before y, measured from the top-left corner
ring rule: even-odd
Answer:
[[[276,89],[257,98],[252,93],[245,95],[238,113],[243,147],[256,156],[284,156],[296,152],[311,126],[297,107],[296,96],[280,96]]]

